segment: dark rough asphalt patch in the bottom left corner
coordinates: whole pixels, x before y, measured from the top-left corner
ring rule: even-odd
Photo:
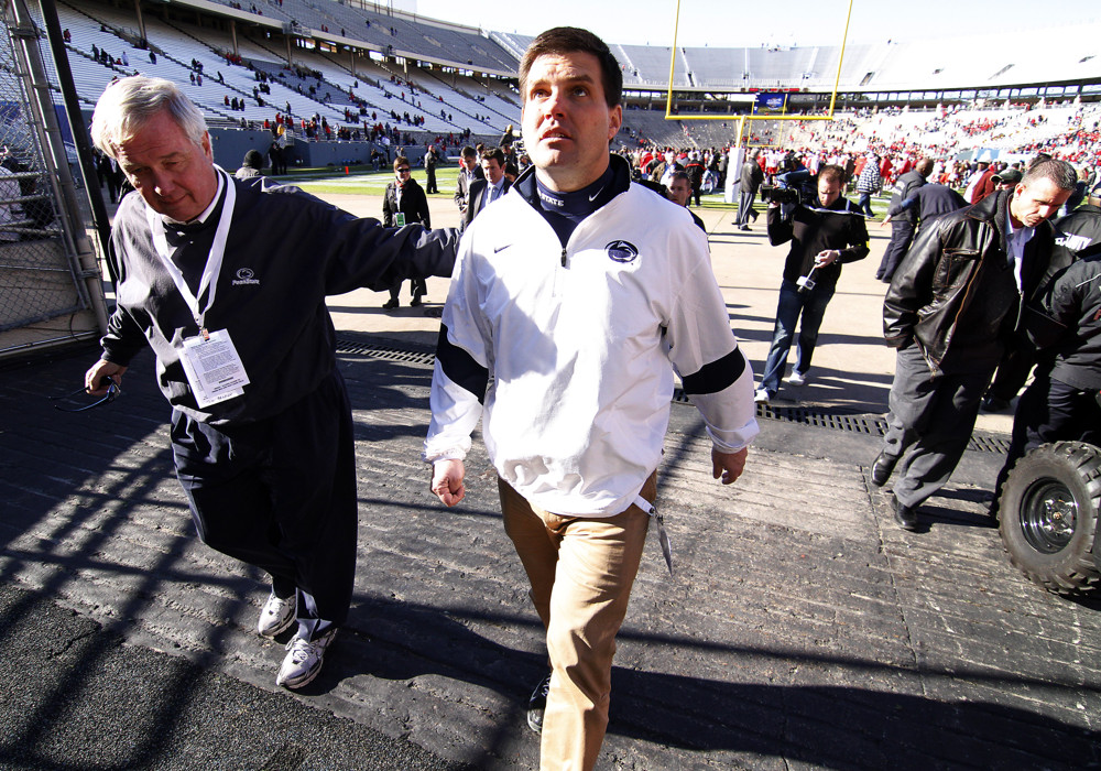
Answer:
[[[23,769],[460,768],[200,662],[126,644],[42,591],[0,585],[0,762]]]

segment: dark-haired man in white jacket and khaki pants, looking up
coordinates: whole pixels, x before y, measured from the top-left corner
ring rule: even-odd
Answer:
[[[585,30],[549,30],[520,72],[534,169],[460,243],[424,458],[433,492],[455,506],[482,420],[505,531],[547,630],[552,674],[528,725],[542,732],[543,768],[591,769],[614,638],[656,513],[674,368],[724,485],[757,433],[753,374],[706,236],[609,152],[622,73],[608,46]]]

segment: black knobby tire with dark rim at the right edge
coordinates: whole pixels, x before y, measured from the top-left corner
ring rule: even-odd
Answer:
[[[1060,595],[1093,593],[1101,580],[1093,537],[1101,508],[1101,450],[1082,442],[1037,447],[1013,467],[999,504],[1010,561]]]

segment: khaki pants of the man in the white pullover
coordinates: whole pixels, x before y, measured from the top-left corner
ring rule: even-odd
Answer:
[[[626,615],[650,517],[632,506],[614,517],[553,514],[498,480],[504,530],[532,584],[547,630],[550,692],[539,768],[588,771],[608,727],[615,634]],[[641,496],[653,501],[657,474]]]

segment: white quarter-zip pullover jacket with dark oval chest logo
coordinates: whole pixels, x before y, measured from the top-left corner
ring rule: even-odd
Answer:
[[[498,474],[532,503],[611,517],[661,460],[674,368],[727,453],[757,433],[753,373],[684,208],[624,185],[563,248],[524,182],[459,245],[424,458],[465,457],[481,417]]]

